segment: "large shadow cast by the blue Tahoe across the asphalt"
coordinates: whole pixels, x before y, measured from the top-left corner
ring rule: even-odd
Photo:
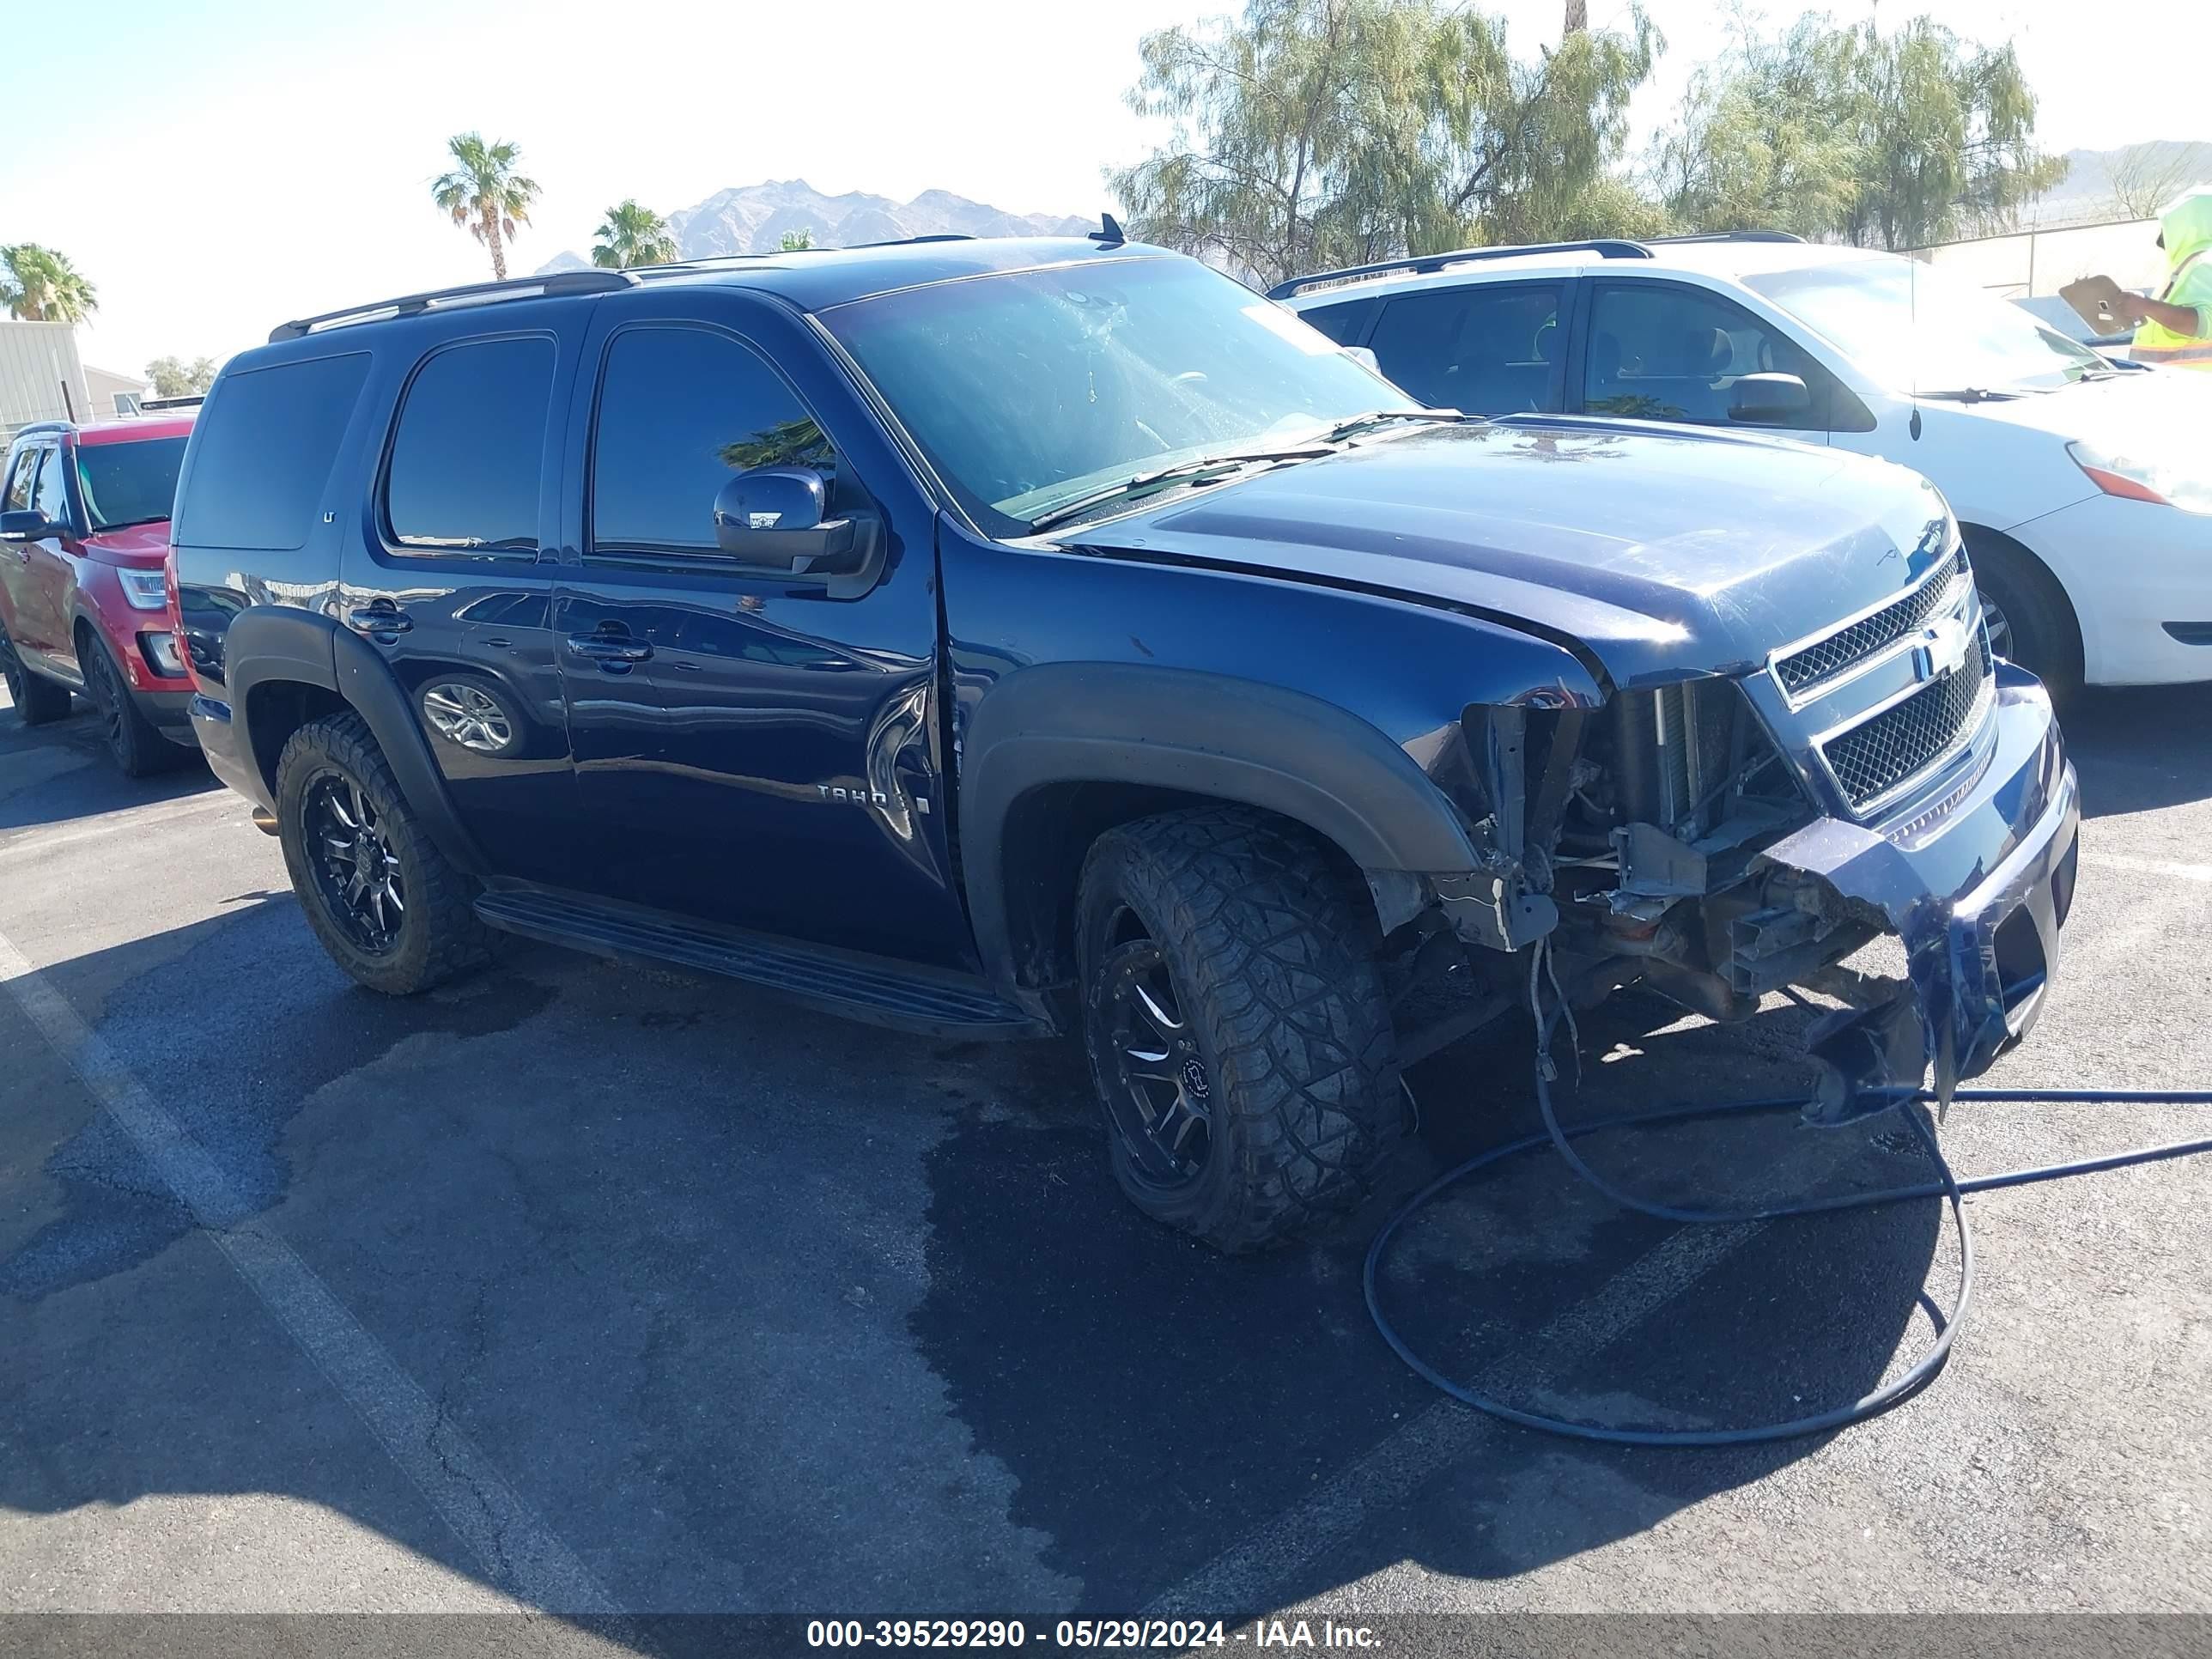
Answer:
[[[856,1037],[557,951],[394,1002],[347,987],[285,898],[199,927],[106,993],[106,1051],[633,1610],[1126,1615],[1197,1595],[1183,1613],[1237,1617],[1402,1559],[1526,1573],[1809,1451],[1462,1422],[1376,1338],[1365,1241],[1433,1170],[1528,1128],[1524,1020],[1420,1071],[1420,1139],[1347,1228],[1225,1261],[1113,1190],[1066,1044]],[[106,956],[44,980],[108,984]],[[1584,1020],[1571,1110],[1778,1088],[1798,1020],[1719,1031],[1617,1000]],[[82,1091],[7,1088],[0,1504],[279,1493],[518,1588]],[[1774,1119],[1593,1155],[1725,1197],[1924,1175],[1900,1148],[1893,1128]],[[1610,1422],[1796,1413],[1927,1340],[1933,1206],[1759,1248],[1681,1237],[1531,1155],[1416,1221],[1387,1294],[1449,1371]],[[1411,1484],[1409,1431],[1436,1453]],[[330,1606],[354,1595],[345,1571]]]

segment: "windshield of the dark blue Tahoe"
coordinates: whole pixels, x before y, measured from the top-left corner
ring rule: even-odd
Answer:
[[[1137,473],[1407,405],[1336,341],[1190,259],[973,276],[821,319],[993,535]]]

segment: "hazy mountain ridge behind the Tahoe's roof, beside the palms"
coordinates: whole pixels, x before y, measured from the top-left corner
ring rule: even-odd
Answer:
[[[1097,219],[1048,212],[1006,212],[951,190],[922,190],[914,201],[891,201],[865,190],[825,197],[805,179],[770,179],[717,190],[706,201],[668,215],[668,228],[675,232],[684,259],[772,254],[785,234],[799,230],[810,232],[818,248],[856,248],[863,241],[951,232],[964,237],[1079,237],[1095,223]],[[535,274],[580,270],[586,263],[582,254],[560,252]]]

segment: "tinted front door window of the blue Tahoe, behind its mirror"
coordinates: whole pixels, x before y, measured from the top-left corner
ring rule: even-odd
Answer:
[[[701,327],[613,338],[593,438],[593,551],[719,553],[714,495],[748,467],[836,476],[830,438],[781,374]]]

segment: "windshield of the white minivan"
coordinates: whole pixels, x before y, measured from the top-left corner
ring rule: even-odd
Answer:
[[[1891,392],[2051,392],[2112,367],[2011,301],[1911,259],[1776,270],[1743,281]]]

